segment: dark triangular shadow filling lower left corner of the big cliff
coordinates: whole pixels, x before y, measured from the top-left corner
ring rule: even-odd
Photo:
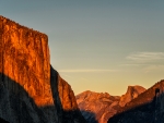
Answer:
[[[0,118],[10,123],[47,123],[26,90],[9,76],[0,73]]]

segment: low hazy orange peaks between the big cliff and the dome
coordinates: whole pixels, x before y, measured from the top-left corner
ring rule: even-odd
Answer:
[[[89,123],[106,123],[119,108],[119,96],[84,91],[77,96],[79,108]]]

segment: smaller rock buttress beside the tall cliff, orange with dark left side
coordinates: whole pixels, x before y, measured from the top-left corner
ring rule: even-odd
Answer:
[[[85,123],[71,86],[50,67],[50,83],[59,123]]]

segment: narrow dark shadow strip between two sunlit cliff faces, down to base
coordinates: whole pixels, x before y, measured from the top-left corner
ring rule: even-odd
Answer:
[[[54,70],[52,66],[50,65],[50,85],[51,85],[51,90],[52,90],[54,102],[55,102],[56,110],[57,110],[57,115],[60,119],[60,122],[61,123],[74,123],[74,121],[77,121],[78,123],[85,123],[85,119],[81,115],[81,112],[79,109],[75,109],[72,111],[63,110],[62,103],[59,97],[59,91],[58,91],[58,82],[59,82],[58,75],[59,75],[58,72]]]

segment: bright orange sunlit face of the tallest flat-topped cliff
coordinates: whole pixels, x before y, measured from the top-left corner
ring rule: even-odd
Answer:
[[[49,61],[45,34],[0,16],[0,73],[19,83],[39,107],[54,104]],[[20,91],[12,85],[8,88]]]

